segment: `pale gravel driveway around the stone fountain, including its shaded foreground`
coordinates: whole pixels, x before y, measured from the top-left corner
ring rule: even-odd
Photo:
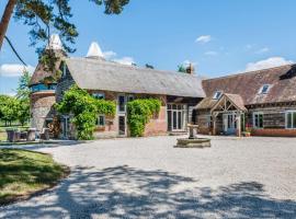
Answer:
[[[296,139],[174,143],[151,137],[44,146],[37,150],[72,173],[44,195],[0,208],[0,218],[296,218]]]

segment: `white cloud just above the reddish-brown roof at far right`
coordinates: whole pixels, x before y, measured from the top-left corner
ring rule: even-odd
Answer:
[[[254,71],[254,70],[260,70],[260,69],[273,68],[273,67],[284,66],[284,65],[288,65],[293,62],[294,61],[286,60],[283,57],[271,57],[264,60],[248,64],[246,66],[244,71]]]

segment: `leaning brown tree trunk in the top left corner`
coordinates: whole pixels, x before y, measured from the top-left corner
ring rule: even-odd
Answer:
[[[7,34],[7,31],[8,31],[9,21],[10,21],[12,13],[13,13],[13,9],[14,9],[14,5],[16,4],[16,1],[18,0],[9,0],[8,1],[4,13],[3,13],[2,19],[1,19],[1,23],[0,23],[0,51],[2,48],[4,36]]]

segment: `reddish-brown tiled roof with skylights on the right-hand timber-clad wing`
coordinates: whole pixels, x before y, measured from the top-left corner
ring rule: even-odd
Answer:
[[[264,84],[270,84],[270,90],[261,94]],[[216,91],[240,95],[244,105],[296,101],[296,65],[203,80],[203,89],[207,97],[198,108],[210,108]]]

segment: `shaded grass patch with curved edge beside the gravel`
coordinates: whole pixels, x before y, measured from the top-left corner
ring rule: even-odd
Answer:
[[[53,187],[68,174],[52,155],[20,149],[0,149],[0,205]]]

